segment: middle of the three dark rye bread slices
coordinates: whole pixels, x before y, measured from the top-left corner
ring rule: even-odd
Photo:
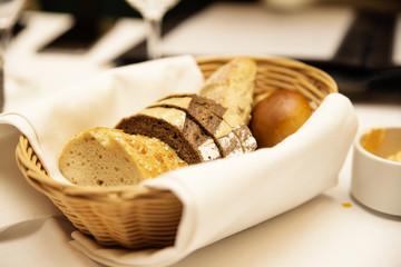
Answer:
[[[213,105],[216,107],[213,107]],[[223,118],[211,111],[211,109],[214,109],[219,115],[223,115],[225,108],[221,105],[214,103],[208,99],[202,99],[202,97],[196,95],[179,95],[162,99],[150,107],[168,107],[184,110],[188,117],[196,121],[214,139],[223,157],[244,154],[241,141],[232,131],[231,126]]]

